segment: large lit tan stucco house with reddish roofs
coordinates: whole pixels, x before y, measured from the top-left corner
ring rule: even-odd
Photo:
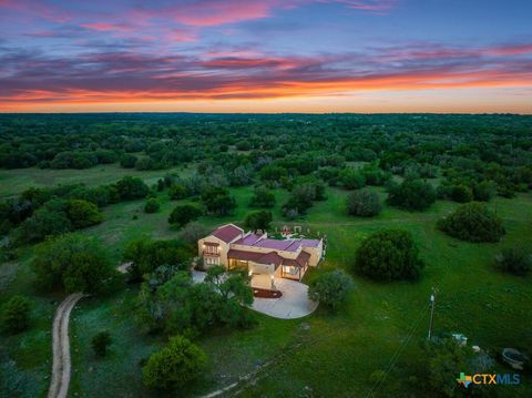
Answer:
[[[269,238],[267,233],[244,233],[234,224],[222,225],[197,242],[205,267],[247,268],[250,275],[301,280],[307,268],[318,265],[323,239]]]

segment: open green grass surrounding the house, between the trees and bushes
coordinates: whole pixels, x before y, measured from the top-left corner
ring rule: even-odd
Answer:
[[[129,172],[116,166],[89,171],[1,171],[1,196],[20,193],[30,185],[69,182],[103,184],[122,175],[142,176],[155,182],[165,172]],[[81,175],[81,177],[80,177]],[[385,197],[382,188],[375,188]],[[227,222],[242,223],[250,187],[232,190],[238,207],[233,216],[202,217],[201,224],[214,227]],[[284,224],[280,204],[288,193],[276,190],[277,205],[274,225]],[[386,370],[390,359],[418,322],[412,337],[405,346],[387,379],[375,396],[424,397],[423,377],[427,358],[421,350],[428,327],[428,298],[432,287],[439,289],[434,331],[462,333],[470,344],[498,353],[503,347],[532,346],[531,276],[525,278],[502,274],[493,268],[493,258],[502,247],[532,247],[532,195],[520,194],[512,200],[490,202],[503,218],[507,235],[498,244],[470,244],[448,237],[436,229],[436,222],[457,204],[438,201],[424,213],[410,213],[385,206],[370,220],[345,215],[346,192],[327,190],[327,200],[315,203],[304,221],[293,224],[326,234],[329,245],[326,262],[307,273],[306,280],[328,267],[349,268],[360,241],[372,231],[397,227],[410,231],[427,263],[422,278],[416,284],[377,284],[355,276],[356,289],[347,308],[332,316],[323,308],[303,319],[279,320],[258,316],[257,327],[250,330],[216,329],[200,339],[209,357],[207,371],[188,391],[175,396],[197,396],[223,388],[257,366],[275,359],[254,385],[243,386],[243,396],[256,397],[364,397],[374,387],[371,375]],[[112,253],[119,265],[124,245],[132,238],[151,235],[171,238],[167,216],[178,202],[161,193],[162,206],[156,214],[142,211],[143,201],[109,206],[105,222],[84,229],[96,236]],[[134,217],[136,215],[136,217]],[[51,319],[60,297],[43,296],[32,284],[29,269],[32,249],[17,262],[0,267],[0,300],[13,293],[28,294],[35,303],[35,320],[30,331],[2,341],[18,366],[25,370],[31,384],[28,396],[45,396],[51,364]],[[140,361],[164,344],[154,337],[140,335],[134,318],[133,300],[136,287],[127,287],[103,298],[86,298],[73,312],[71,336],[73,377],[71,396],[132,397],[151,396],[142,387]],[[95,359],[90,338],[101,329],[112,333],[111,355]],[[501,367],[501,371],[511,371]],[[460,369],[457,370],[457,377]],[[532,382],[526,377],[521,386],[498,387],[501,397],[530,397]],[[155,396],[155,395],[153,395]]]

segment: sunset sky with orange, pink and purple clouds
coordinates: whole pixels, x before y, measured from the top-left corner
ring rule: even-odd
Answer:
[[[532,1],[0,0],[0,112],[532,113]]]

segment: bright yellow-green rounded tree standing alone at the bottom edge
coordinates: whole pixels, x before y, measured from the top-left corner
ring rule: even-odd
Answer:
[[[142,369],[142,380],[150,388],[184,388],[205,368],[207,357],[182,336],[172,337],[166,347],[152,354]]]

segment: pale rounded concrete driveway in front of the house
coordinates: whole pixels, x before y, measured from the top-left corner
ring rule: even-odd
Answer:
[[[318,306],[318,303],[308,299],[307,285],[283,278],[275,278],[274,283],[283,296],[280,298],[255,297],[253,309],[274,318],[295,319],[311,314]]]

